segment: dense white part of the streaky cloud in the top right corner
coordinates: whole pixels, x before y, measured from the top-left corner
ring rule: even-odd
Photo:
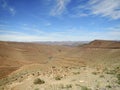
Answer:
[[[88,6],[92,14],[120,19],[120,0],[90,0]]]

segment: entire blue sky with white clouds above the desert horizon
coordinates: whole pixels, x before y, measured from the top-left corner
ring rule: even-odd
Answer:
[[[0,0],[2,41],[120,40],[120,0]]]

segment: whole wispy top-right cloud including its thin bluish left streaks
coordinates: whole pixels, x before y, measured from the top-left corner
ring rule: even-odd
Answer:
[[[96,15],[116,20],[120,19],[120,0],[89,0],[73,10],[76,17]]]

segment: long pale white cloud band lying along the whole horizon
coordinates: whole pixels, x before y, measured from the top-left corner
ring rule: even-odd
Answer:
[[[105,28],[103,28],[105,29]],[[39,29],[29,30],[33,33],[0,30],[0,40],[3,41],[87,41],[94,39],[120,40],[120,28],[106,28],[105,31],[80,30],[70,28],[59,32],[47,32]]]

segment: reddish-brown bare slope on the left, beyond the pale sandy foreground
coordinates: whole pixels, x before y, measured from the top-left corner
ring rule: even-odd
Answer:
[[[71,50],[65,46],[51,46],[22,42],[0,42],[0,78],[19,67],[45,64],[57,54]]]

